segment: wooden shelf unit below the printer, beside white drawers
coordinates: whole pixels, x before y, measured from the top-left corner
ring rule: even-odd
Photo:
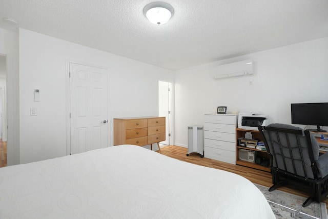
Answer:
[[[241,148],[241,149],[245,149],[245,150],[256,151],[257,154],[259,154],[261,157],[268,158],[270,160],[270,164],[272,162],[271,159],[270,159],[269,154],[267,153],[267,151],[257,150],[255,148],[239,147],[238,146],[238,138],[245,137],[246,132],[252,132],[253,139],[261,140],[261,135],[260,135],[260,132],[258,130],[245,130],[245,129],[236,128],[236,164],[241,165],[241,166],[245,166],[245,167],[251,167],[251,168],[254,168],[254,169],[258,169],[258,170],[271,172],[271,168],[270,168],[271,165],[269,165],[269,167],[264,167],[260,164],[255,164],[255,163],[239,160],[239,150],[238,149]]]

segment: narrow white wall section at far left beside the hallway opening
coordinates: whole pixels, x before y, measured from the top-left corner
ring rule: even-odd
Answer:
[[[0,28],[0,54],[7,66],[7,165],[19,164],[18,34]]]

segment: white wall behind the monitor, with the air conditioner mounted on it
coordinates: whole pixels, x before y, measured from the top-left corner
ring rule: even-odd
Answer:
[[[255,76],[211,78],[211,67],[245,59],[255,61]],[[175,145],[187,147],[187,127],[203,124],[203,114],[218,106],[291,124],[290,104],[307,102],[328,102],[328,37],[182,69],[175,78]]]

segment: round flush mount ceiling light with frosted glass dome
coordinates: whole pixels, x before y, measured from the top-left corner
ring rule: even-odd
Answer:
[[[153,24],[162,25],[173,16],[174,10],[171,5],[164,2],[153,2],[144,8],[144,14]]]

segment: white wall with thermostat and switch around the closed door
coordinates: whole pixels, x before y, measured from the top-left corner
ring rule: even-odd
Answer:
[[[20,163],[66,155],[67,59],[109,68],[111,145],[113,118],[158,115],[158,80],[173,81],[170,70],[19,29]]]

